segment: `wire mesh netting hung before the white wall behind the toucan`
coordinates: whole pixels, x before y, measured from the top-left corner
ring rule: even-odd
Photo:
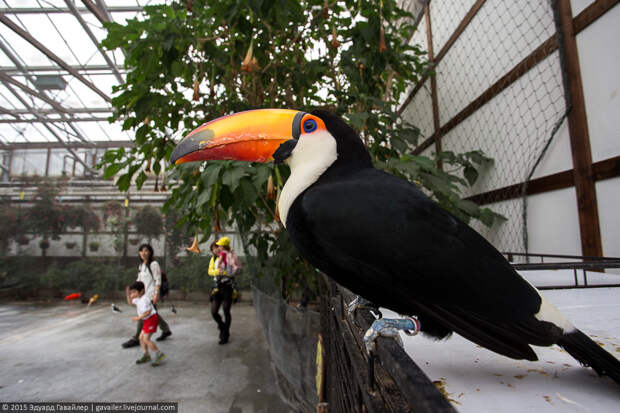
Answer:
[[[441,136],[443,151],[482,150],[494,164],[466,188],[463,197],[527,182],[535,176],[539,158],[567,112],[562,67],[557,51],[522,76],[506,77],[545,41],[557,44],[554,12],[549,2],[486,1],[448,49],[448,39],[470,10],[480,2],[433,0],[429,3],[433,50],[442,58],[436,64],[439,124],[470,112]],[[423,10],[421,11],[423,12]],[[412,42],[427,46],[426,19],[421,19]],[[552,47],[554,45],[551,45]],[[489,90],[499,90],[480,107],[474,101]],[[417,92],[404,110],[423,138],[432,136],[430,82]],[[473,110],[472,110],[473,109]],[[431,155],[434,145],[422,152]],[[570,165],[566,165],[567,169]],[[521,189],[515,196],[520,196]],[[488,205],[508,221],[487,228],[472,226],[502,251],[527,251],[526,203],[522,199]]]

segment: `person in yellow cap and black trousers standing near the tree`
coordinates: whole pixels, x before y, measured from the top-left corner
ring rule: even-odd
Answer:
[[[211,315],[220,330],[219,344],[226,344],[230,337],[232,318],[230,307],[233,302],[233,277],[241,272],[242,266],[237,255],[230,248],[230,238],[222,237],[211,244],[213,256],[209,262],[209,276],[213,277],[214,285],[211,290]],[[224,320],[219,310],[224,311]]]

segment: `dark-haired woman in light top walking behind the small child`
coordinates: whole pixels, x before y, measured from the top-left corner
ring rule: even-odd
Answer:
[[[153,247],[149,244],[140,245],[140,248],[138,248],[138,255],[140,256],[141,263],[138,267],[138,278],[136,281],[141,281],[144,284],[144,295],[153,302],[153,306],[155,310],[157,310],[156,304],[161,300],[161,268],[159,263],[154,260]],[[162,341],[172,335],[172,332],[161,314],[158,314],[158,316],[159,321],[157,325],[161,329],[161,334],[156,340]],[[142,331],[142,320],[138,321],[136,334],[123,343],[123,348],[140,345],[140,340],[138,340],[140,331]]]

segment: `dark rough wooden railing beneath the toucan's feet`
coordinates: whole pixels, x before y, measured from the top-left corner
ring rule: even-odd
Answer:
[[[323,358],[320,412],[455,413],[450,402],[398,343],[376,341],[366,353],[363,336],[374,321],[368,310],[347,313],[353,295],[327,277],[321,281]]]

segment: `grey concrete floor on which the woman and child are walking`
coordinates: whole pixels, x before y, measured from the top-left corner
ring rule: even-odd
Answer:
[[[118,305],[118,303],[117,303]],[[135,307],[79,302],[0,303],[0,400],[177,401],[180,412],[287,412],[254,307],[232,308],[231,339],[205,303],[177,302],[160,313],[173,335],[157,343],[161,366],[136,365],[139,347],[122,349],[135,331]],[[159,332],[157,333],[159,335]]]

